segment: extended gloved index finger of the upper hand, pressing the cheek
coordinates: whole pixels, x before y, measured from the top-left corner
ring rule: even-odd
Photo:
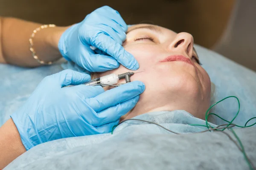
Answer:
[[[116,59],[120,64],[130,70],[137,70],[139,68],[139,63],[134,56],[125,51],[122,45],[111,39],[108,35],[99,34],[92,45],[106,52],[108,55]]]

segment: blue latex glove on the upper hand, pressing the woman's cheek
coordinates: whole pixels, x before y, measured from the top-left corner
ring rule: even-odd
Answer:
[[[81,23],[68,28],[61,35],[58,48],[65,59],[90,72],[113,70],[119,63],[137,70],[137,60],[122,47],[126,31],[127,25],[120,14],[103,6],[87,15]],[[98,54],[90,46],[98,48]]]

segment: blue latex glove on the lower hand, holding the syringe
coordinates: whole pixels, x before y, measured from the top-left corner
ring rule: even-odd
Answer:
[[[145,90],[134,81],[108,91],[78,85],[87,74],[64,70],[42,80],[26,103],[11,115],[26,150],[55,139],[109,133]],[[73,87],[62,88],[68,85]]]

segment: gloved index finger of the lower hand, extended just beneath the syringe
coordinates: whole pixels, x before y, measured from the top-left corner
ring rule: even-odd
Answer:
[[[124,85],[120,85],[117,88],[112,88],[111,90],[105,91],[104,93],[93,98],[86,99],[85,102],[90,105],[94,111],[99,112],[132,99],[135,96],[143,93],[144,90],[145,85],[143,82],[129,82]]]

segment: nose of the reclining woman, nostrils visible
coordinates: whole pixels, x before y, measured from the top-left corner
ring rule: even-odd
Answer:
[[[175,39],[169,45],[172,51],[185,52],[190,58],[193,55],[194,38],[191,34],[181,32],[176,35]]]

